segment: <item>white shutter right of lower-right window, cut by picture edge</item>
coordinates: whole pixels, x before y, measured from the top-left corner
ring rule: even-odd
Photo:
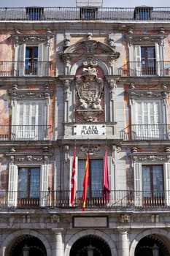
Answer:
[[[163,173],[164,173],[166,206],[170,206],[170,162],[164,162]]]

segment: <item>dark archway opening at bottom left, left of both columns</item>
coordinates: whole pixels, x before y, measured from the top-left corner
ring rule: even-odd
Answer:
[[[27,253],[26,253],[27,252]],[[44,244],[35,236],[20,236],[12,244],[9,256],[47,256]]]

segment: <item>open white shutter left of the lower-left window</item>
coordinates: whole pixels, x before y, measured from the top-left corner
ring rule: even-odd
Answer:
[[[9,164],[8,206],[16,207],[18,197],[18,166]]]

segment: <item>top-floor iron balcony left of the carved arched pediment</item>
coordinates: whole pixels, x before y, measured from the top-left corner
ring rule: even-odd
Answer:
[[[51,62],[0,61],[0,77],[50,76]]]

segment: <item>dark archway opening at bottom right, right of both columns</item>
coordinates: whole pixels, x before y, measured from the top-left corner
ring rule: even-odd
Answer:
[[[135,249],[135,256],[170,256],[166,245],[155,235],[145,236]]]

